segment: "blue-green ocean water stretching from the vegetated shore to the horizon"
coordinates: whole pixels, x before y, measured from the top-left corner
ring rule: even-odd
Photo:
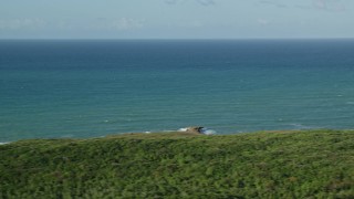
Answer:
[[[354,128],[354,40],[0,41],[0,143]]]

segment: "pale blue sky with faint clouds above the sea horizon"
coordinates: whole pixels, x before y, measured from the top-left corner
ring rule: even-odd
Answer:
[[[354,38],[354,0],[0,0],[0,39]]]

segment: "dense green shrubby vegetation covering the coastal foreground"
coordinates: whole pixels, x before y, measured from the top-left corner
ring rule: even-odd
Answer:
[[[0,146],[0,198],[354,198],[354,130]]]

